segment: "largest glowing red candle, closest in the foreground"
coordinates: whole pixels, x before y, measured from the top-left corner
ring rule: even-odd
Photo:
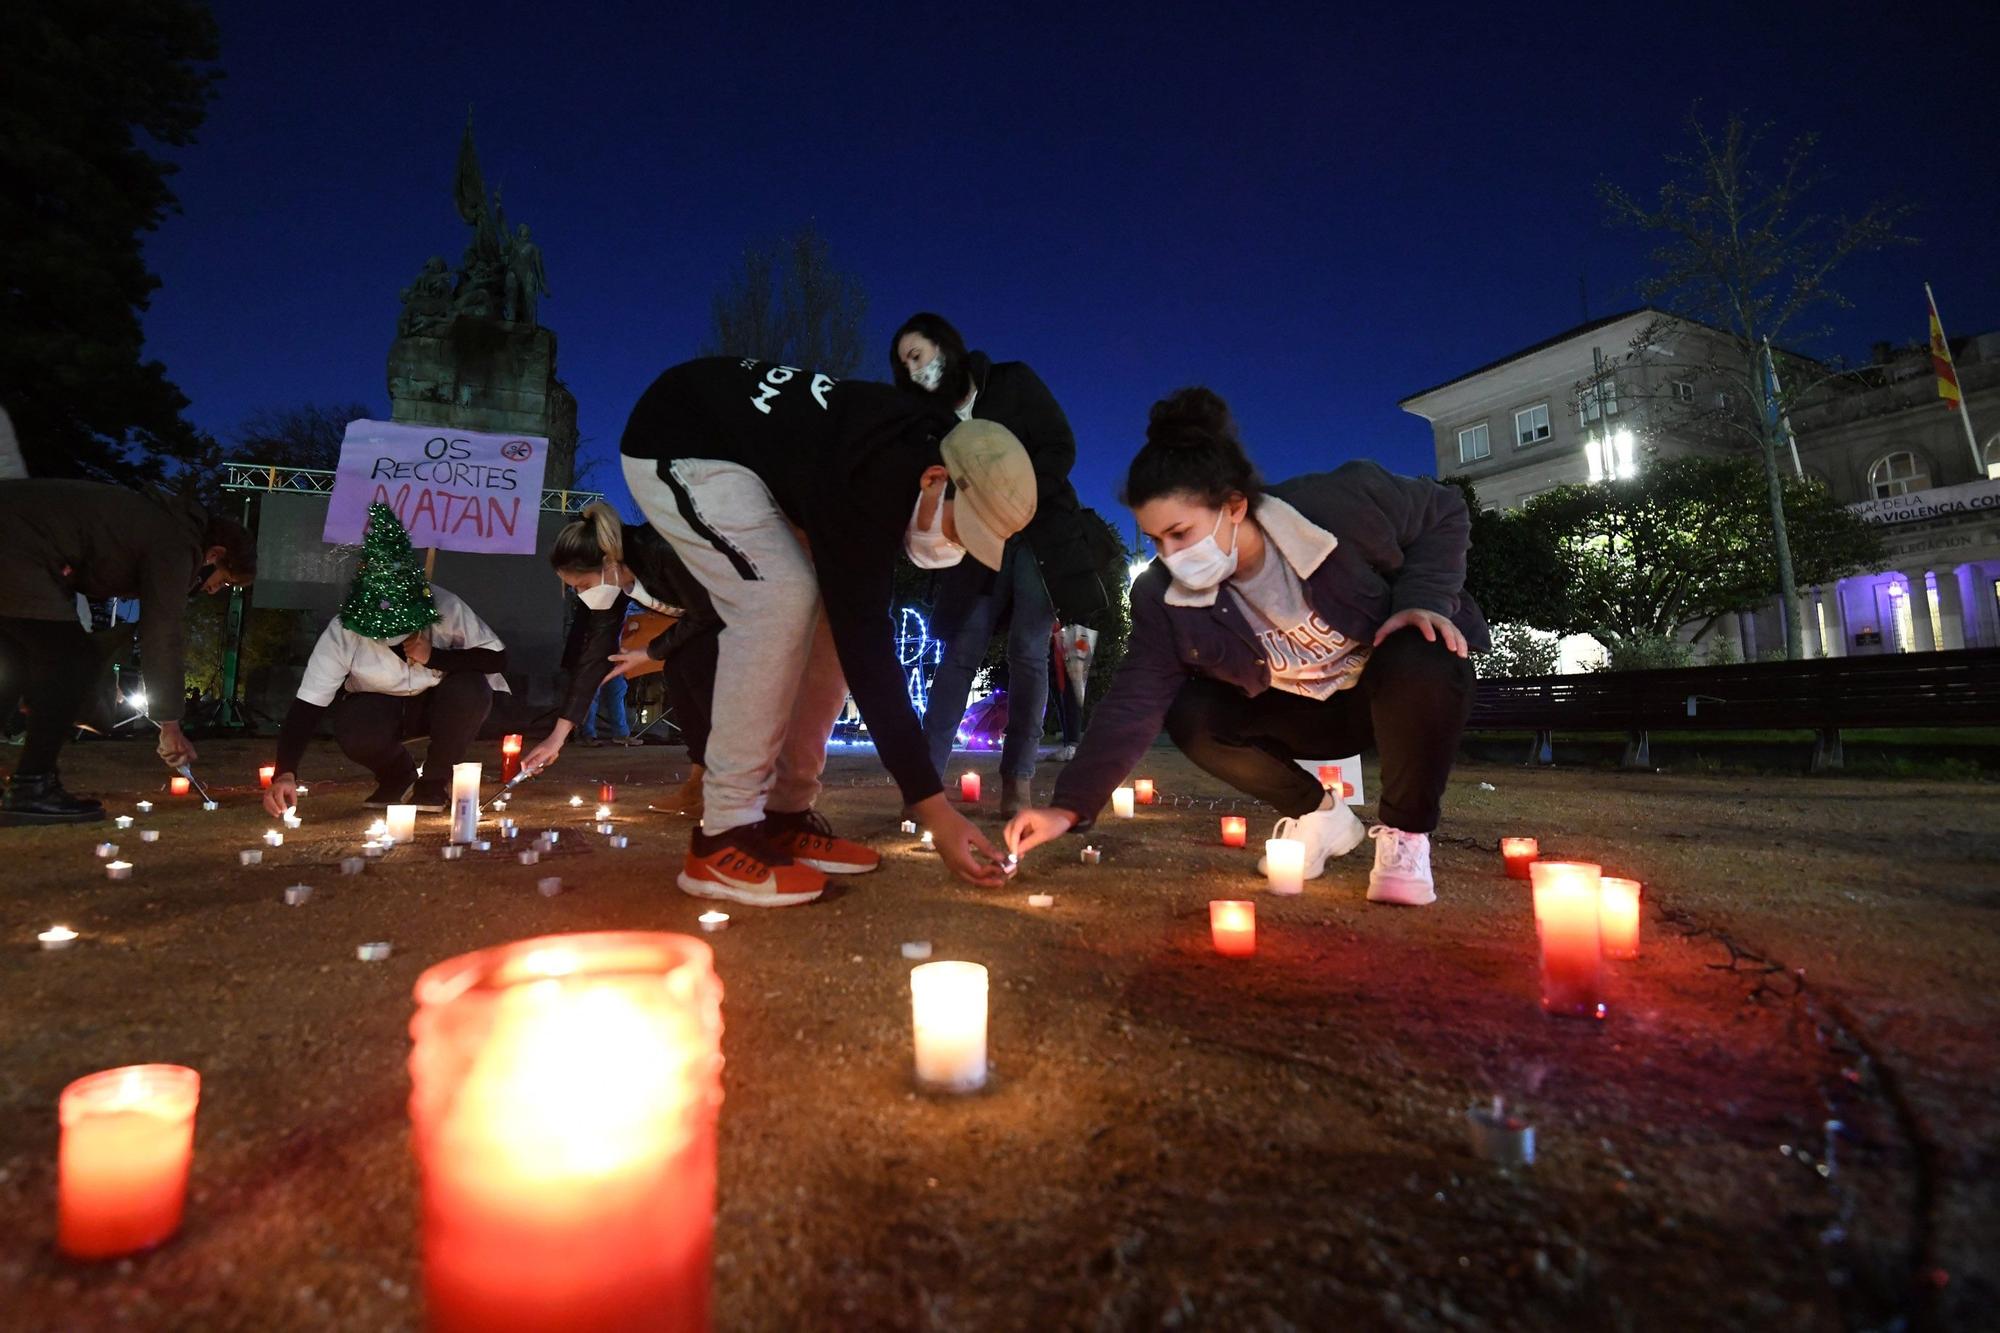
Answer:
[[[548,935],[416,983],[430,1329],[708,1329],[722,983],[698,939]]]

